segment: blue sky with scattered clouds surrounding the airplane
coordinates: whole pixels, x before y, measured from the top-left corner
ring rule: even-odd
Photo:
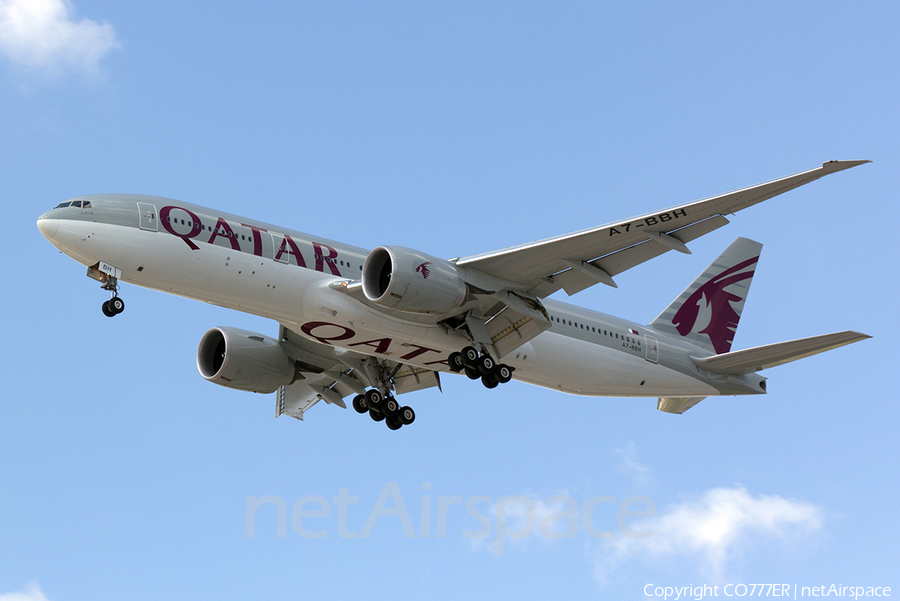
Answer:
[[[898,18],[890,2],[0,1],[0,600],[896,594]],[[107,319],[34,225],[72,196],[137,192],[454,257],[830,159],[874,163],[573,299],[649,322],[745,236],[765,247],[736,348],[874,335],[683,416],[457,377],[407,397],[418,418],[396,433],[331,406],[276,420],[273,395],[209,384],[194,360],[210,327],[276,324],[128,286]],[[263,497],[284,502],[283,537],[276,504],[248,532]],[[463,501],[443,536],[440,497]],[[618,526],[635,498],[623,510],[655,516],[626,526],[649,538]]]

